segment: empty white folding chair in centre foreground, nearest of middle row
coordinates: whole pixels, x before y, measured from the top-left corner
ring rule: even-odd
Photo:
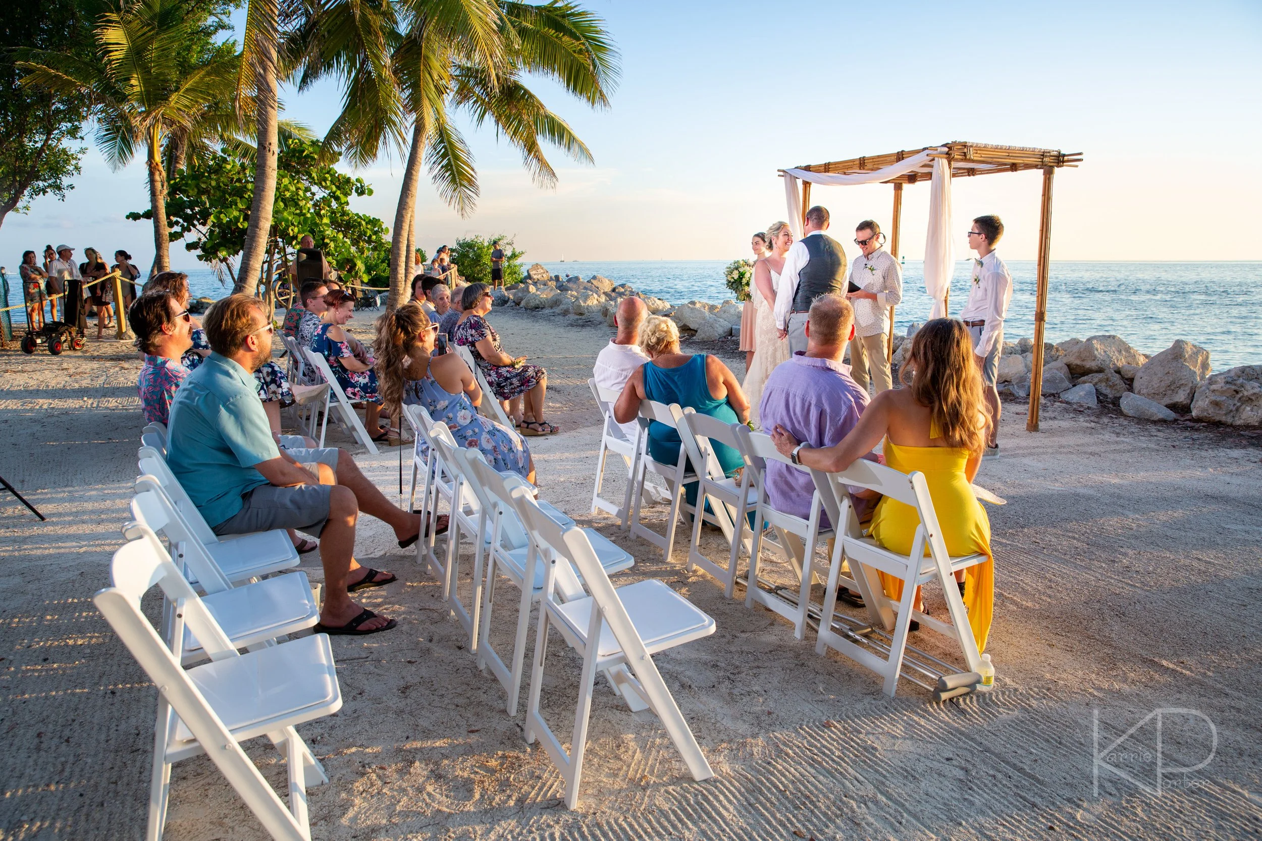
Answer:
[[[652,654],[714,633],[714,620],[656,579],[615,589],[582,530],[570,527],[563,531],[522,488],[514,488],[510,496],[535,543],[535,551],[546,562],[525,735],[531,744],[539,736],[544,750],[560,770],[565,779],[565,806],[574,808],[578,804],[597,671],[608,673],[623,696],[637,696],[658,715],[693,779],[709,779],[713,775],[709,763],[661,680]],[[574,575],[574,567],[583,575],[582,584]],[[583,585],[591,595],[583,591]],[[565,599],[554,596],[554,589],[565,594]],[[553,627],[583,657],[569,751],[539,710],[548,630]]]

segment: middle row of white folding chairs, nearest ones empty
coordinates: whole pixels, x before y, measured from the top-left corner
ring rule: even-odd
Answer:
[[[533,608],[539,608],[525,738],[528,743],[539,739],[562,773],[565,804],[574,808],[578,803],[597,673],[631,710],[658,715],[694,779],[713,775],[652,654],[714,633],[714,620],[655,579],[616,588],[610,576],[632,566],[631,555],[536,499],[535,489],[520,475],[500,473],[477,449],[459,446],[448,427],[435,424],[424,407],[405,406],[404,414],[416,440],[413,504],[419,488],[430,516],[428,537],[419,542],[416,560],[442,581],[443,599],[469,634],[468,648],[478,667],[504,686],[510,716],[517,711]],[[439,557],[433,535],[444,506],[449,528],[445,556]],[[458,593],[462,536],[473,542],[467,603]],[[491,643],[496,590],[505,581],[517,594],[507,658]],[[540,711],[551,629],[583,658],[569,750]]]

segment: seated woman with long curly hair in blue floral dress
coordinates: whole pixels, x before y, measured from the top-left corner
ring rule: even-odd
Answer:
[[[437,333],[438,325],[415,301],[377,322],[377,368],[386,407],[398,417],[400,403],[424,406],[437,422],[447,424],[457,444],[478,448],[496,470],[512,470],[534,484],[535,465],[525,440],[477,414],[485,397],[459,354],[432,357]]]

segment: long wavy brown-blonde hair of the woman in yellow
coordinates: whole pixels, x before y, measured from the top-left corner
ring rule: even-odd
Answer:
[[[911,353],[899,372],[911,396],[929,407],[938,436],[948,446],[978,453],[991,434],[982,398],[982,374],[973,362],[973,342],[963,322],[935,318],[911,339]]]

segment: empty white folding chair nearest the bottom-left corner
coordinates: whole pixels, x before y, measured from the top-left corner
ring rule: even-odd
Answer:
[[[92,600],[158,686],[153,774],[145,838],[160,841],[167,823],[172,764],[206,753],[274,838],[309,841],[307,787],[328,777],[295,725],[337,712],[342,693],[327,634],[241,654],[213,613],[170,562],[153,532],[114,555],[114,586]],[[175,605],[175,648],[168,648],[140,610],[154,585]],[[180,667],[184,628],[212,662]],[[268,736],[285,757],[289,807],[246,757],[241,744]]]

